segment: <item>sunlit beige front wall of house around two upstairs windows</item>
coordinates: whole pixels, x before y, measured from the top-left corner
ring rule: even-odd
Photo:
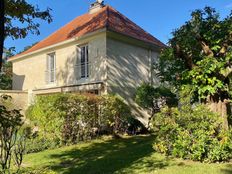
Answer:
[[[89,47],[90,76],[88,79],[81,79],[79,46],[85,44]],[[29,91],[104,81],[106,78],[105,48],[106,34],[100,33],[13,60],[13,90]],[[48,84],[46,60],[50,53],[55,53],[56,80],[55,83]]]

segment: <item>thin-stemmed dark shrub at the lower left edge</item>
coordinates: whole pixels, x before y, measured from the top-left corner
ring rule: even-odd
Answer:
[[[13,108],[11,97],[0,96],[0,172],[10,173],[12,161],[20,169],[24,147],[19,144],[18,132],[23,125],[20,110]]]

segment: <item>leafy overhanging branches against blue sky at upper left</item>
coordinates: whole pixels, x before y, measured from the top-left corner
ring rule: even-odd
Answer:
[[[50,23],[52,21],[51,9],[40,10],[37,5],[25,0],[5,0],[5,35],[13,39],[25,38],[29,32],[39,34],[40,24],[35,19]],[[14,25],[15,22],[23,25]]]

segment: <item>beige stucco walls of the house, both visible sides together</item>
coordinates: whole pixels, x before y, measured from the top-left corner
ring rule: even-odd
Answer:
[[[80,78],[79,46],[88,45],[90,76]],[[143,82],[158,83],[151,72],[158,49],[128,36],[102,31],[53,46],[34,54],[12,60],[13,90],[28,93],[27,104],[36,95],[98,90],[100,94],[118,94],[132,107],[143,123],[149,115],[134,102],[135,91]],[[55,53],[53,84],[46,82],[46,58]]]

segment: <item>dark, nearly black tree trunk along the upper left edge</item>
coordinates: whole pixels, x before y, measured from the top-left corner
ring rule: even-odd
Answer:
[[[0,0],[0,71],[2,69],[3,47],[5,39],[5,0]]]

